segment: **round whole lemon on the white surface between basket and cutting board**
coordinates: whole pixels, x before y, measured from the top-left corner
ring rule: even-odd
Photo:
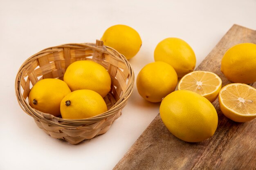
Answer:
[[[177,86],[177,74],[165,62],[153,62],[144,66],[137,76],[139,95],[149,102],[161,102]]]

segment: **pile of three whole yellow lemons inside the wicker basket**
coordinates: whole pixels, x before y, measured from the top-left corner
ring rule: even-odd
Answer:
[[[63,80],[38,81],[29,93],[30,106],[63,119],[85,119],[107,111],[103,97],[110,91],[111,78],[103,66],[89,60],[73,62]]]

